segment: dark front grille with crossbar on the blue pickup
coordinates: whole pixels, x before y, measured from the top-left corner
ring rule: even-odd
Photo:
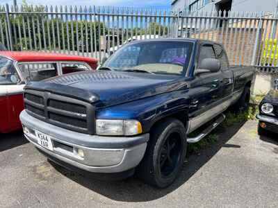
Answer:
[[[90,103],[26,89],[24,105],[28,114],[47,123],[85,134],[95,133],[95,107]]]

